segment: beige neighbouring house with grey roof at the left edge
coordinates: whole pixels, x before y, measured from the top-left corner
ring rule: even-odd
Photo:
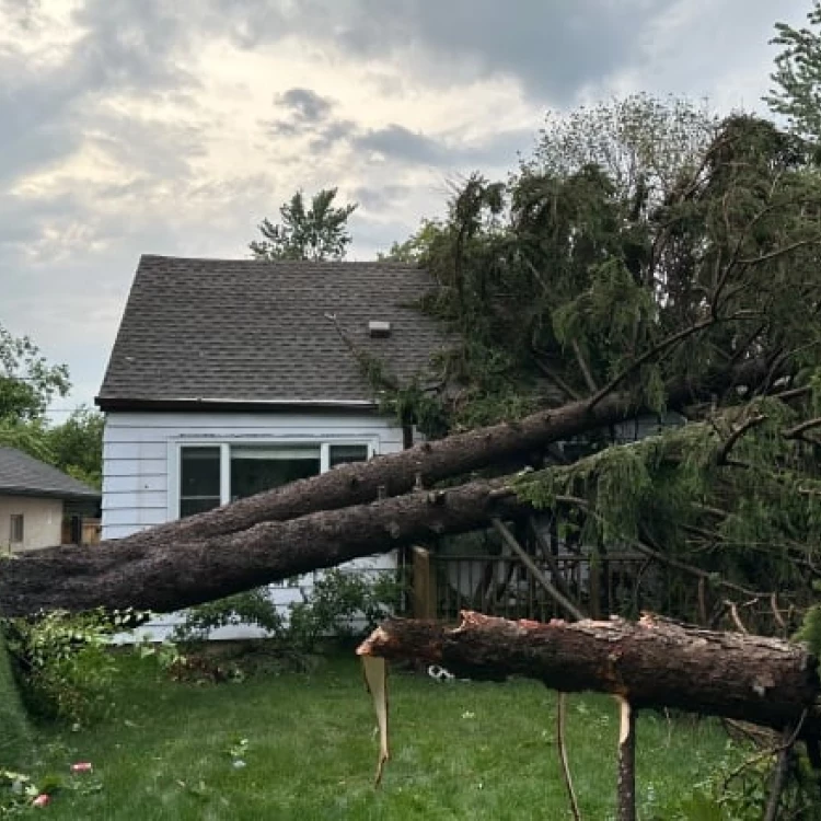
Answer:
[[[30,551],[62,541],[69,511],[96,508],[100,494],[45,462],[0,447],[0,550]]]

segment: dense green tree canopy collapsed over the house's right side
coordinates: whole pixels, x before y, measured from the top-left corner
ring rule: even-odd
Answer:
[[[394,407],[437,435],[614,391],[663,415],[672,383],[763,361],[753,388],[730,381],[645,441],[590,426],[569,464],[535,462],[519,490],[590,550],[633,545],[693,589],[806,604],[821,558],[819,203],[812,144],[761,117],[646,95],[551,115],[510,180],[472,176],[442,223],[395,247],[420,254],[436,282],[421,308],[459,342],[439,383]]]

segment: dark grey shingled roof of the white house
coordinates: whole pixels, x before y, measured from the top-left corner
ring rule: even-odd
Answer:
[[[401,379],[421,373],[446,342],[412,307],[431,285],[393,263],[143,256],[97,404],[370,405],[339,329]],[[371,321],[390,335],[371,338]]]

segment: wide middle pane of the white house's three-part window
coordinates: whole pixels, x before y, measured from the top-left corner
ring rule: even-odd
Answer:
[[[320,472],[319,446],[231,448],[231,498],[270,490]]]

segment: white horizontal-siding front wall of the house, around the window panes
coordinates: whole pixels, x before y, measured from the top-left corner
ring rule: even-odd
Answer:
[[[402,450],[402,429],[374,414],[314,410],[303,413],[108,412],[103,437],[103,539],[131,533],[178,518],[181,449],[219,447],[223,453],[222,500],[230,500],[226,470],[231,448],[316,446],[322,470],[334,444],[367,444],[371,454]],[[395,554],[357,559],[347,569],[390,569]],[[271,586],[276,603],[301,600],[313,583],[309,574]],[[174,614],[148,625],[162,638],[180,621]],[[215,638],[255,635],[248,627],[223,628]]]

